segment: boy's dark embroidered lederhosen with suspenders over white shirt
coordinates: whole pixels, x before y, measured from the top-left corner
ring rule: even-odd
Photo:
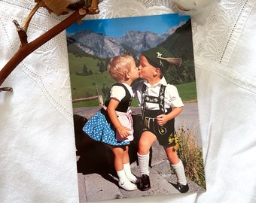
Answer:
[[[166,86],[161,85],[158,97],[145,95],[147,86],[143,84],[142,86],[142,120],[144,123],[144,128],[142,131],[150,131],[157,136],[159,144],[162,146],[177,146],[178,147],[178,137],[175,133],[175,119],[169,120],[164,126],[159,126],[157,124],[157,116],[160,114],[169,114],[172,108],[164,108],[164,95]],[[159,105],[159,110],[147,110],[145,108],[145,103],[157,103]]]

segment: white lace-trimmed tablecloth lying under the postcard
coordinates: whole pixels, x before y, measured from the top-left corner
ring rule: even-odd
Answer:
[[[145,198],[149,202],[256,201],[256,1],[223,0],[192,17],[207,191]],[[0,67],[20,42],[34,1],[0,0]],[[167,0],[104,0],[89,19],[173,12]],[[63,17],[40,8],[29,41]],[[0,200],[78,202],[75,138],[65,32],[30,54],[0,92]],[[134,201],[122,199],[122,202]]]

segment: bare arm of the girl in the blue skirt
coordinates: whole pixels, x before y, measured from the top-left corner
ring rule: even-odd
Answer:
[[[117,100],[117,98],[110,99],[110,102],[109,102],[108,108],[107,108],[108,117],[110,118],[111,123],[113,123],[115,129],[117,129],[117,132],[119,133],[119,135],[122,138],[126,138],[128,135],[131,135],[130,134],[131,129],[128,129],[128,128],[122,126],[120,121],[118,120],[117,113],[115,112],[118,104],[119,104],[119,101]]]

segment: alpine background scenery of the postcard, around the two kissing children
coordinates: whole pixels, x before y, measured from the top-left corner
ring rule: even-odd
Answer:
[[[114,153],[108,144],[96,141],[84,132],[84,125],[97,112],[115,83],[107,70],[110,59],[130,55],[139,67],[145,51],[162,57],[180,58],[181,64],[169,63],[164,77],[178,89],[184,103],[183,111],[175,117],[178,137],[178,157],[184,166],[188,191],[204,192],[206,181],[203,166],[200,123],[197,111],[197,89],[194,52],[189,16],[163,14],[147,17],[126,17],[105,20],[83,20],[66,30],[69,52],[70,80],[74,110],[75,142],[77,148],[78,185],[81,202],[148,195],[172,195],[178,188],[175,168],[169,162],[159,141],[154,142],[149,155],[150,186],[123,189],[114,167]],[[163,54],[164,53],[164,54]],[[135,80],[132,86],[141,82]],[[131,103],[134,140],[129,144],[130,170],[142,180],[138,143],[142,134],[141,108],[136,98]],[[101,124],[101,123],[99,123]],[[131,190],[131,191],[127,191]]]

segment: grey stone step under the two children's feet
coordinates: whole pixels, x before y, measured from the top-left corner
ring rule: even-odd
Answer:
[[[136,162],[131,165],[133,174],[139,176]],[[176,177],[168,169],[168,162],[162,161],[150,168],[151,189],[126,191],[118,186],[116,174],[82,174],[78,173],[80,202],[103,201],[117,198],[137,198],[151,195],[180,194],[175,188]],[[204,192],[205,190],[188,180],[188,192]]]

